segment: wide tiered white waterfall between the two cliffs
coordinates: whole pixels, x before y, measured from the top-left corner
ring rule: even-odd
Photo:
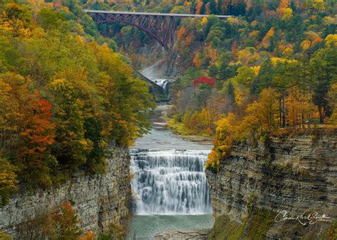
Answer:
[[[210,213],[205,161],[210,151],[131,149],[137,214]]]

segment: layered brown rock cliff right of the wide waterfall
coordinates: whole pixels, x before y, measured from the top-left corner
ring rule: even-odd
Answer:
[[[236,227],[245,225],[240,236],[248,236],[252,213],[255,219],[267,216],[264,239],[316,239],[336,227],[336,131],[329,136],[272,137],[257,148],[242,143],[232,148],[218,173],[207,170],[206,175],[213,215],[228,217]],[[317,212],[316,218],[328,218],[314,224],[303,219],[303,225],[298,219],[284,219],[285,212],[288,217]]]

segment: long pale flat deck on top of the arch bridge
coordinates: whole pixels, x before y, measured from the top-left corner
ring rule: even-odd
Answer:
[[[146,13],[136,11],[102,11],[102,10],[85,10],[87,13],[113,13],[121,15],[145,15],[145,16],[176,16],[178,18],[203,18],[208,17],[208,14],[185,14],[185,13]],[[213,15],[218,18],[232,18],[232,15]]]

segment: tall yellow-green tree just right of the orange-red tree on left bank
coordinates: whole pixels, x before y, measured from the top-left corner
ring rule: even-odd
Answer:
[[[55,109],[53,119],[57,124],[53,153],[60,163],[77,168],[86,162],[85,153],[92,148],[85,138],[83,103],[67,80],[54,80],[49,89]]]

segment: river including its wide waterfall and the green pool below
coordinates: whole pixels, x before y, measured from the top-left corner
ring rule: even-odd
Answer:
[[[130,150],[134,217],[128,239],[153,239],[173,229],[213,226],[205,161],[211,145],[185,141],[165,127],[169,109],[159,104],[152,130]]]

